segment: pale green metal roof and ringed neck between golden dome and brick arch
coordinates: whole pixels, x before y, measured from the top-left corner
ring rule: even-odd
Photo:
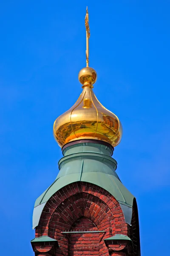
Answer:
[[[130,224],[134,197],[116,174],[117,163],[111,157],[112,153],[111,148],[96,143],[79,143],[65,148],[64,157],[59,160],[60,171],[56,180],[35,202],[33,228],[38,225],[42,204],[45,206],[55,192],[77,181],[92,183],[110,192],[119,202],[125,220]]]

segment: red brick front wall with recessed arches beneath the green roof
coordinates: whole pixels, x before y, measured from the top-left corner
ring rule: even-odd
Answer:
[[[98,230],[105,233],[63,234],[62,231]],[[116,199],[91,183],[76,182],[57,191],[46,203],[36,237],[48,235],[59,243],[56,256],[124,255],[109,253],[104,239],[128,235],[127,223]],[[126,255],[126,254],[125,254]]]

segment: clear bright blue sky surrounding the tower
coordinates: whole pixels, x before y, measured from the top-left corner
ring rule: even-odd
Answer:
[[[62,157],[53,122],[82,90],[87,5],[94,93],[123,125],[113,157],[137,198],[142,256],[169,254],[170,1],[1,0],[2,255],[34,255],[34,201]]]

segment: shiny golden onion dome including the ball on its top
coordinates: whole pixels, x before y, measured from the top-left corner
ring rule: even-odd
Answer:
[[[93,92],[96,78],[96,71],[91,67],[80,70],[82,93],[77,102],[54,122],[54,137],[59,146],[80,139],[102,140],[113,147],[119,144],[122,125],[118,117],[96,98]]]

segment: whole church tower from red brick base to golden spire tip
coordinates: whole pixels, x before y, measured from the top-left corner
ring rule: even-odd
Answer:
[[[35,256],[140,256],[136,199],[120,181],[112,158],[122,125],[93,92],[97,74],[88,65],[88,10],[85,28],[82,93],[54,122],[63,157],[56,180],[35,202],[31,245]]]

